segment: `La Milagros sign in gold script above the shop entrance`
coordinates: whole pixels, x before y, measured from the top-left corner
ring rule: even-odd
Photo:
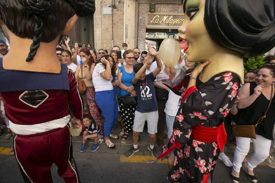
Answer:
[[[183,23],[183,13],[146,13],[146,28],[178,29]]]

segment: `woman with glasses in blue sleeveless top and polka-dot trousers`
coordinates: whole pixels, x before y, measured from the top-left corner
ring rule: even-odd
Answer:
[[[134,90],[134,86],[132,80],[134,78],[134,52],[133,50],[129,49],[123,53],[123,58],[125,61],[125,65],[119,67],[118,70],[118,81],[116,82],[119,86],[119,108],[122,115],[123,121],[123,128],[124,128],[124,135],[121,138],[121,143],[125,144],[127,142],[129,133],[133,131],[133,123],[134,123],[134,113],[137,108],[137,105],[125,106],[123,105],[122,97],[128,95],[129,93],[131,96],[137,96],[136,91]]]

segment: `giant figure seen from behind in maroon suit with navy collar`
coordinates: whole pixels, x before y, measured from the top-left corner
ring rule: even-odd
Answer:
[[[55,48],[77,16],[92,16],[94,10],[94,0],[0,1],[0,25],[10,41],[0,59],[0,92],[25,182],[53,182],[53,163],[65,182],[80,182],[68,106],[75,116],[71,124],[80,124],[82,99],[74,73],[60,64]]]

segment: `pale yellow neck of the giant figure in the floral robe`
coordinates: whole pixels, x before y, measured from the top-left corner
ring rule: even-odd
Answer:
[[[200,81],[206,82],[216,74],[229,71],[237,74],[241,83],[244,84],[244,64],[240,55],[230,52],[217,52],[209,59],[211,63],[204,67],[200,74]]]

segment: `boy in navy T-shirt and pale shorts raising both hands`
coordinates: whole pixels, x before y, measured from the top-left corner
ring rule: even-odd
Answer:
[[[135,152],[139,151],[139,132],[143,131],[145,120],[148,124],[150,139],[150,145],[148,145],[147,148],[152,152],[152,156],[154,158],[158,157],[158,153],[154,147],[159,118],[154,80],[161,71],[162,63],[154,48],[148,46],[148,51],[149,53],[147,54],[146,63],[137,63],[134,66],[135,77],[132,82],[135,90],[137,91],[138,105],[137,110],[135,111],[133,125],[133,146],[128,152],[126,152],[127,157],[133,156]],[[152,73],[146,75],[146,67],[152,63],[154,57],[157,62],[157,68]]]

